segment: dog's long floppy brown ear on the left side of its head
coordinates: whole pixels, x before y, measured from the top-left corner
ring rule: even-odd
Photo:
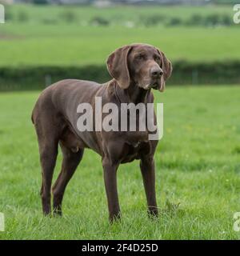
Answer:
[[[127,66],[127,57],[132,46],[122,46],[114,50],[107,58],[107,70],[112,78],[115,78],[122,89],[130,86],[130,74]]]

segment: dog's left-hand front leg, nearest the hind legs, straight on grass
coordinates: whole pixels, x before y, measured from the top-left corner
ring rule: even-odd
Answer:
[[[115,219],[120,218],[117,188],[118,164],[113,164],[110,159],[104,158],[102,161],[102,167],[109,209],[109,219],[110,222],[113,222]]]

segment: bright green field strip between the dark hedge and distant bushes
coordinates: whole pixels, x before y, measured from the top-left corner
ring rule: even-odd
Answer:
[[[78,30],[76,33],[74,28]],[[16,25],[14,29],[34,30],[34,26],[26,28],[23,25]],[[4,49],[0,66],[102,65],[111,51],[133,42],[146,42],[158,46],[171,60],[210,62],[240,58],[236,43],[240,39],[239,33],[234,28],[129,29],[62,26],[59,34],[54,34],[54,26],[42,27],[43,30],[46,34],[53,31],[53,34],[0,41],[0,47]]]

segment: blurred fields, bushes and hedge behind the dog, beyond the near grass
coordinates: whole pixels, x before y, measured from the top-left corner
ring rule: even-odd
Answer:
[[[146,42],[173,61],[170,84],[240,82],[240,25],[230,0],[0,0],[0,90],[62,78],[105,82],[106,57]]]

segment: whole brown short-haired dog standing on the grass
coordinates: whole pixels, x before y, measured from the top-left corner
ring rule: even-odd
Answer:
[[[118,166],[134,159],[140,159],[149,213],[158,214],[154,173],[154,151],[158,140],[149,140],[148,130],[80,132],[77,108],[83,102],[94,106],[95,97],[102,97],[102,104],[113,102],[119,107],[121,103],[154,102],[150,89],[164,90],[166,79],[172,72],[171,63],[154,46],[133,44],[110,54],[107,68],[113,78],[110,82],[100,85],[74,79],[63,80],[43,90],[34,106],[32,121],[38,135],[42,165],[44,214],[51,212],[50,190],[58,143],[62,148],[63,161],[61,173],[52,188],[54,214],[62,214],[63,194],[82,159],[84,148],[90,148],[102,157],[110,221],[120,217],[116,178]]]

